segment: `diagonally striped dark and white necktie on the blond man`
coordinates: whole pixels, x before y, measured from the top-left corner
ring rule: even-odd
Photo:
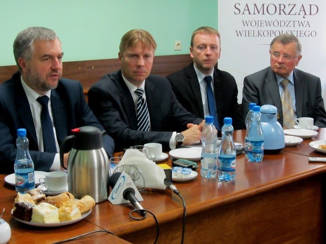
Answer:
[[[149,131],[149,114],[146,100],[143,98],[144,90],[137,88],[134,92],[138,95],[137,102],[137,121],[139,131]]]

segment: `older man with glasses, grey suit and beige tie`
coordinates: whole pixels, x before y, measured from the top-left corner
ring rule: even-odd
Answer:
[[[312,117],[314,125],[326,127],[320,78],[295,69],[302,58],[301,43],[292,35],[281,34],[270,43],[270,67],[244,78],[243,118],[249,103],[277,107],[283,128],[293,128],[295,118]]]

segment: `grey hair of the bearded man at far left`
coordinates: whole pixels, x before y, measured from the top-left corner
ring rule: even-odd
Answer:
[[[34,52],[33,43],[35,40],[52,41],[56,39],[60,41],[59,37],[52,31],[52,29],[45,27],[29,27],[21,31],[17,35],[13,45],[14,57],[18,70],[21,72],[21,68],[18,64],[18,58],[23,57],[27,60],[31,59]]]

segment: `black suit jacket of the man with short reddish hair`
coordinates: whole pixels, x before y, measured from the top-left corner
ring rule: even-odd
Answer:
[[[168,75],[167,78],[181,105],[197,117],[205,118],[200,85],[194,63],[176,73]],[[234,77],[228,72],[215,68],[213,82],[220,127],[222,128],[225,117],[231,117],[235,130],[244,129],[244,120],[241,117],[241,109],[239,109],[237,102],[238,88]]]

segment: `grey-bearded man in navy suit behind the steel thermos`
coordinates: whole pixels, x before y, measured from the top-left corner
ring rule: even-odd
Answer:
[[[0,85],[0,172],[14,171],[19,128],[27,131],[35,170],[60,170],[59,146],[72,129],[104,128],[88,107],[82,85],[61,78],[63,52],[55,32],[44,27],[25,29],[15,39],[14,56],[19,72]],[[49,128],[54,135],[51,152],[45,150],[43,108],[37,100],[44,96],[49,100]],[[103,144],[108,156],[113,156],[113,139],[106,135]],[[67,159],[65,154],[65,164]]]

